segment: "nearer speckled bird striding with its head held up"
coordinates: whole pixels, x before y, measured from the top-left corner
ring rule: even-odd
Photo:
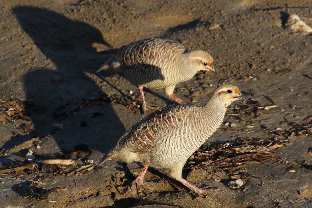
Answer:
[[[232,84],[217,87],[203,106],[171,105],[156,110],[130,127],[98,163],[108,160],[126,163],[140,162],[142,172],[132,182],[137,194],[143,197],[141,186],[148,167],[167,168],[171,177],[204,197],[219,188],[199,188],[182,177],[182,168],[188,158],[220,127],[227,107],[236,100],[246,101],[239,88]]]

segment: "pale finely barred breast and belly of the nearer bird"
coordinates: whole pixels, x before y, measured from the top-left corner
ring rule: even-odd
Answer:
[[[188,108],[187,112],[179,114],[177,119],[173,116],[173,122],[168,121],[170,119],[158,119],[157,127],[150,127],[156,129],[149,131],[149,140],[152,141],[151,145],[148,144],[150,148],[145,148],[144,144],[146,153],[138,153],[136,161],[153,167],[183,165],[223,121],[224,115],[222,119],[207,119],[207,113],[197,106],[181,106],[177,111],[183,112],[183,108]],[[138,146],[145,142],[139,139],[137,141]]]

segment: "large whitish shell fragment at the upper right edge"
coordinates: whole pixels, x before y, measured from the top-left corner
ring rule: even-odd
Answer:
[[[302,33],[302,35],[312,34],[312,28],[308,26],[298,15],[292,14],[287,19],[287,29],[290,29],[292,33]]]

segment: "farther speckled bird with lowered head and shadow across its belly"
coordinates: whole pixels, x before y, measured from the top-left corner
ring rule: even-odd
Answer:
[[[173,95],[174,87],[190,80],[197,71],[210,70],[216,74],[212,56],[205,51],[188,51],[180,42],[169,39],[149,38],[122,46],[97,71],[114,70],[138,85],[143,112],[157,108],[145,101],[143,88],[165,88],[166,94],[178,104],[186,104]]]

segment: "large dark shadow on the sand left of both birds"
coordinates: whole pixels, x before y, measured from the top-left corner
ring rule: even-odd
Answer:
[[[28,56],[35,54],[32,50],[38,48],[48,60],[44,61],[48,64],[30,69],[24,77],[26,99],[33,103],[26,105],[25,110],[35,127],[28,139],[51,134],[61,150],[87,143],[90,149],[107,152],[124,133],[123,123],[109,102],[85,103],[94,99],[94,94],[105,94],[87,75],[93,74],[93,69],[103,63],[103,52],[98,53],[92,45],[105,45],[104,54],[109,55],[114,51],[110,44],[95,27],[57,12],[27,6],[16,7],[13,12],[35,43]],[[68,112],[65,118],[54,117],[59,109]],[[96,112],[105,116],[92,116]],[[81,120],[87,120],[89,125],[79,126]],[[63,124],[64,128],[53,129],[55,123]],[[14,139],[14,145],[22,142],[24,140]],[[12,142],[8,141],[2,148],[12,148]]]

